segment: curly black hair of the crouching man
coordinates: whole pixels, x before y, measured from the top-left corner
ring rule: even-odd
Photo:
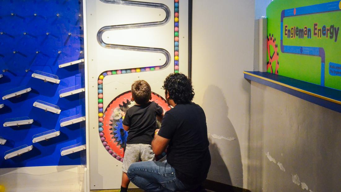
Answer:
[[[181,73],[172,73],[166,77],[163,89],[176,104],[190,103],[194,97],[191,80]]]

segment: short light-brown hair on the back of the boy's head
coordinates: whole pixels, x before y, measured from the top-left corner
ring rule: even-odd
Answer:
[[[145,80],[137,80],[131,85],[131,94],[137,104],[146,104],[151,96],[150,85]]]

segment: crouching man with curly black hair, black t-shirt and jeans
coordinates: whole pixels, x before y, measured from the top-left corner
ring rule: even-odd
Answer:
[[[166,162],[137,162],[128,169],[129,179],[146,191],[191,191],[201,186],[211,164],[204,110],[191,102],[190,79],[170,74],[165,82],[165,97],[174,108],[165,113],[160,130],[155,131],[155,155],[167,147]]]

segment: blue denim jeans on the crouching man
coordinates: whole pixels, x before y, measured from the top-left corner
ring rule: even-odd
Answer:
[[[131,182],[148,192],[189,191],[197,187],[196,185],[182,183],[176,177],[175,169],[167,162],[142,161],[133,163],[130,165],[127,174]]]

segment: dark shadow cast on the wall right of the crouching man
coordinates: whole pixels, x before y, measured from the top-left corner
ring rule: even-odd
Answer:
[[[243,187],[239,140],[232,122],[227,117],[228,106],[219,87],[208,86],[202,107],[206,114],[211,153],[211,167],[207,179]]]

